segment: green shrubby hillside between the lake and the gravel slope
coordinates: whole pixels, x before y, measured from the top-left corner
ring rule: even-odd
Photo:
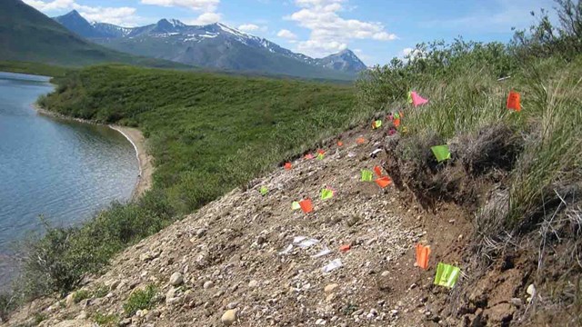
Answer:
[[[52,258],[25,264],[20,293],[33,297],[67,292],[127,244],[244,187],[368,114],[355,110],[352,86],[334,84],[121,65],[68,72],[57,83],[40,104],[60,114],[137,126],[148,138],[156,170],[153,190],[136,203],[115,204],[80,229],[49,227],[31,245],[32,253]]]

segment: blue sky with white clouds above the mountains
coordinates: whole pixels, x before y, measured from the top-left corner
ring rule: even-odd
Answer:
[[[323,57],[349,48],[367,65],[403,57],[434,40],[507,43],[512,27],[553,0],[23,0],[45,15],[73,9],[89,21],[127,27],[179,19],[216,22],[265,37],[294,52]]]

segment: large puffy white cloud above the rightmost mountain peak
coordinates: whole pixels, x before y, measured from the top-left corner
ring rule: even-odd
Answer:
[[[323,56],[347,48],[355,39],[392,41],[395,34],[386,32],[385,26],[376,22],[346,19],[338,13],[344,11],[347,0],[295,0],[301,9],[286,19],[311,31],[309,39],[297,43],[298,51],[312,56]]]

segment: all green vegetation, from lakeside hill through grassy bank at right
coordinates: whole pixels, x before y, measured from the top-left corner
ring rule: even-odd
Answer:
[[[481,216],[477,232],[500,240],[539,223],[536,213],[557,187],[579,183],[582,175],[582,5],[557,4],[558,26],[542,13],[509,45],[461,39],[417,45],[405,60],[366,72],[356,87],[122,65],[68,72],[39,104],[142,130],[155,157],[154,187],[80,227],[47,226],[45,236],[28,245],[15,297],[70,292],[127,245],[379,111],[404,108],[407,133],[394,151],[426,171],[462,163],[478,172],[492,163],[470,154],[507,154],[493,160],[507,161],[496,168],[510,167],[502,179],[507,208],[489,220]],[[410,90],[429,105],[411,108]],[[522,94],[520,113],[506,108],[510,90]],[[450,145],[451,161],[434,163],[430,146],[437,144]],[[428,186],[448,192],[445,184]],[[12,303],[4,300],[5,308]]]

